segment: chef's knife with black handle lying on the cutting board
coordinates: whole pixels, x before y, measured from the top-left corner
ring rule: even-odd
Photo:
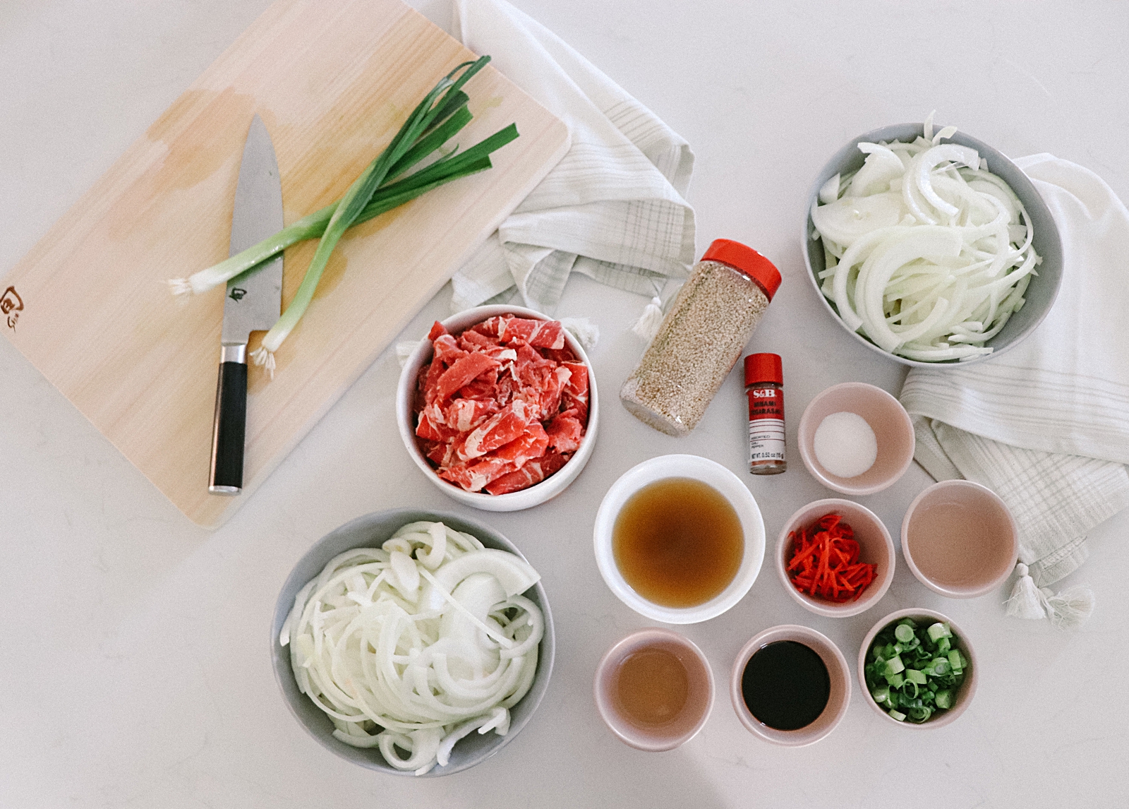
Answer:
[[[282,229],[282,184],[274,145],[259,115],[243,147],[239,181],[231,214],[235,255]],[[237,495],[243,489],[243,445],[247,418],[247,338],[270,329],[282,308],[282,256],[252,268],[227,282],[224,333],[220,338],[216,420],[212,426],[211,476],[208,490]]]

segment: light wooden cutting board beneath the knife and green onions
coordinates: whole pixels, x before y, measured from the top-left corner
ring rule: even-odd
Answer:
[[[227,258],[252,116],[274,141],[289,224],[338,199],[473,58],[400,0],[279,0],[0,279],[0,331],[193,522],[221,524],[568,149],[566,127],[501,73],[471,79],[457,141],[510,122],[520,137],[490,171],[339,243],[273,381],[251,369],[244,493],[224,497],[208,467],[225,292],[183,301],[165,280]],[[314,245],[286,252],[283,307]]]

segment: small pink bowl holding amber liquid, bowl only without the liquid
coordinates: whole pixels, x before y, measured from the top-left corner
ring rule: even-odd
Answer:
[[[671,722],[645,728],[632,722],[618,705],[619,670],[631,654],[644,649],[671,652],[686,670],[686,704]],[[620,741],[637,750],[662,753],[690,741],[706,724],[714,707],[714,676],[706,655],[689,638],[671,629],[651,627],[633,632],[616,643],[596,667],[593,684],[596,710]]]

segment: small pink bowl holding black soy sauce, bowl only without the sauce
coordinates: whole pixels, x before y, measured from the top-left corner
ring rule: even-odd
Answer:
[[[831,678],[831,696],[823,713],[814,722],[798,730],[777,730],[768,727],[753,716],[742,695],[742,678],[750,659],[764,646],[778,641],[795,641],[814,651],[828,667],[828,676]],[[847,715],[847,705],[850,703],[850,668],[839,647],[815,629],[794,624],[773,626],[755,635],[737,653],[737,659],[733,661],[733,671],[729,673],[729,699],[733,701],[737,719],[754,736],[785,747],[813,745],[833,731]]]

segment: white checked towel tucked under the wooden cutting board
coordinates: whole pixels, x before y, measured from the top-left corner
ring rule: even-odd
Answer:
[[[552,32],[505,0],[456,0],[453,33],[560,118],[561,162],[452,279],[458,311],[516,285],[552,312],[569,273],[654,296],[685,278],[694,212],[685,140]]]

